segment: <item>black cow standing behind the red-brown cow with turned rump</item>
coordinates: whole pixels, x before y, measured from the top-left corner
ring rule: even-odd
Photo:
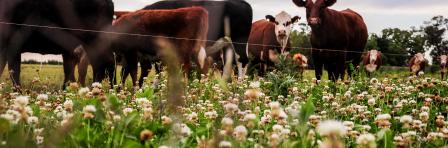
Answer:
[[[191,6],[201,6],[209,12],[209,32],[207,35],[207,46],[212,46],[219,39],[225,36],[230,37],[235,48],[235,61],[238,67],[238,77],[243,78],[247,71],[249,59],[246,52],[246,43],[252,25],[252,7],[244,0],[165,0],[146,6],[145,10],[154,9],[177,9]],[[226,24],[228,23],[228,24]],[[227,29],[226,29],[227,28]],[[226,31],[227,30],[227,31]],[[212,54],[213,59],[221,59],[215,61],[224,61],[231,58],[224,57],[226,51],[218,52],[220,54]],[[218,66],[223,66],[219,64]],[[221,69],[221,68],[220,68]]]

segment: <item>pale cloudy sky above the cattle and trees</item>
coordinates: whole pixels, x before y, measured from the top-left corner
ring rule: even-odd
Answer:
[[[113,0],[115,10],[134,11],[159,0]],[[254,20],[264,19],[264,16],[276,15],[286,11],[291,15],[299,15],[305,23],[305,9],[294,5],[292,0],[247,0],[252,6]],[[367,24],[369,33],[380,33],[385,28],[409,29],[411,26],[421,26],[424,21],[433,16],[448,17],[448,0],[339,0],[330,7],[335,10],[350,8],[360,13]],[[62,59],[61,56],[40,56],[25,54],[22,60]]]

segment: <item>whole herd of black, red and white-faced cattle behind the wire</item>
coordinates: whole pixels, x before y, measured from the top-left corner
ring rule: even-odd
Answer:
[[[381,52],[362,55],[368,38],[363,18],[350,9],[328,8],[336,1],[291,3],[306,10],[316,78],[321,79],[324,68],[330,80],[343,79],[345,71],[353,72],[349,64],[363,63],[368,73],[376,71]],[[262,75],[279,62],[280,55],[293,59],[300,71],[308,66],[304,55],[289,54],[289,34],[299,16],[282,11],[254,23],[252,17],[244,0],[166,0],[135,12],[114,11],[112,0],[0,0],[0,74],[8,64],[18,86],[21,53],[62,54],[64,84],[76,81],[78,65],[78,81],[84,85],[89,64],[93,81],[109,77],[115,83],[116,62],[121,59],[121,76],[130,74],[133,84],[141,85],[152,64],[165,56],[162,41],[172,45],[185,73],[194,62],[204,74],[214,66],[228,78],[236,67],[242,78],[249,66],[256,65]],[[443,78],[447,56],[440,62]],[[425,63],[424,56],[416,54],[409,62],[411,72],[422,71]]]

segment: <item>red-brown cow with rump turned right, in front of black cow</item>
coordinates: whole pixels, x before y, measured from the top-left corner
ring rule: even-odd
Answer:
[[[195,59],[202,73],[208,71],[205,51],[208,12],[204,8],[138,10],[117,19],[113,30],[120,34],[112,35],[112,48],[124,55],[124,73],[130,72],[134,86],[137,86],[137,54],[162,56],[163,49],[157,43],[159,38],[174,45],[185,73],[190,71],[191,58]]]

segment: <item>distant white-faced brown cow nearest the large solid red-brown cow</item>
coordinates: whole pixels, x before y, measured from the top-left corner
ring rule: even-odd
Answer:
[[[381,57],[381,51],[378,50],[370,50],[363,56],[362,63],[369,77],[373,72],[380,69],[382,64]]]

